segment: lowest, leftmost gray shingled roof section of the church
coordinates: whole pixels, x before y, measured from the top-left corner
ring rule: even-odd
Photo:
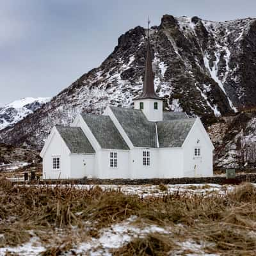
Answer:
[[[56,126],[56,129],[60,133],[61,138],[63,138],[71,153],[95,153],[91,143],[88,141],[80,127]]]

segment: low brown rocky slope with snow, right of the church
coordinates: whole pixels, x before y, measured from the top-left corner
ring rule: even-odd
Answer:
[[[208,132],[215,146],[215,169],[256,168],[256,108],[221,117]]]

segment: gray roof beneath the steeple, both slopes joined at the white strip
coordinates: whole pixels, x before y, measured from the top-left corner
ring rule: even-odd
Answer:
[[[140,109],[109,108],[134,147],[182,147],[196,120],[186,113],[164,112],[164,121],[150,122]]]

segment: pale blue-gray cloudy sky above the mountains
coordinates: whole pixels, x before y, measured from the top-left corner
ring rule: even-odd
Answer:
[[[255,17],[255,0],[0,0],[0,106],[52,97],[97,67],[118,36],[164,14]]]

